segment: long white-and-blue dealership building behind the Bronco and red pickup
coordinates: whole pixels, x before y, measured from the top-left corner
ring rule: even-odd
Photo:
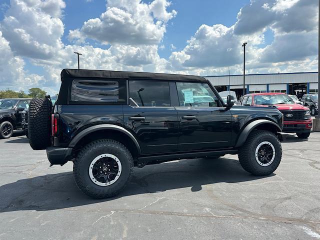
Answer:
[[[204,76],[217,91],[235,91],[237,98],[242,95],[243,75]],[[305,93],[318,92],[317,72],[246,74],[246,93],[285,92],[301,97]]]

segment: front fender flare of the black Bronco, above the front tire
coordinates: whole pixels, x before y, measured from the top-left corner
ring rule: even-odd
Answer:
[[[252,130],[267,130],[267,131],[276,133],[281,131],[281,128],[279,127],[278,124],[270,120],[266,120],[266,119],[253,120],[243,128],[243,130],[241,131],[235,143],[235,147],[241,146],[245,142],[246,138],[248,137],[248,135]]]

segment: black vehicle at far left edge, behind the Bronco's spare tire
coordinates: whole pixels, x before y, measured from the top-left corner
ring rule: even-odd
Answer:
[[[31,98],[0,99],[0,138],[9,138],[13,130],[21,128],[21,113]]]

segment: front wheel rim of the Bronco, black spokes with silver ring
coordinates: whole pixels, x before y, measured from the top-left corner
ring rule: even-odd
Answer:
[[[268,166],[275,157],[274,146],[269,141],[262,141],[255,148],[255,160],[261,166]]]

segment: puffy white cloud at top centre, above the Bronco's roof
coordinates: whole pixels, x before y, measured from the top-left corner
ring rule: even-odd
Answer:
[[[80,29],[69,31],[69,40],[92,38],[111,44],[157,44],[163,38],[166,22],[176,14],[166,11],[170,3],[154,0],[108,0],[99,18],[85,21]]]

